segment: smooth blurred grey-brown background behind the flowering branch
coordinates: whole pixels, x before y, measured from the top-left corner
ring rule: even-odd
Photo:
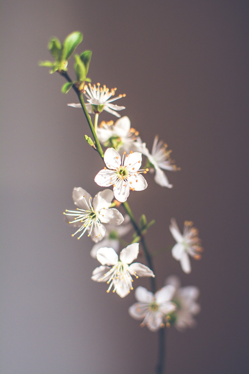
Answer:
[[[186,275],[170,252],[155,259],[157,285],[177,274],[200,289],[196,328],[167,330],[167,374],[247,373],[248,1],[41,0],[1,5],[3,374],[153,373],[157,334],[91,281],[92,241],[72,238],[62,216],[73,187],[94,196],[101,159],[71,90],[39,67],[47,42],[82,31],[93,82],[126,93],[117,104],[149,149],[169,144],[180,172],[130,195],[136,218],[156,224],[151,250],[173,245],[175,217],[194,221],[205,248]],[[70,60],[69,74],[73,76]],[[106,112],[105,112],[106,113]],[[115,120],[102,113],[100,120]],[[136,286],[149,286],[139,279]]]

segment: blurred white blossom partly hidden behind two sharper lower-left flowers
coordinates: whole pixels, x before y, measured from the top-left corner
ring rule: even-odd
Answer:
[[[116,252],[119,250],[120,237],[123,237],[132,229],[130,217],[126,214],[124,216],[124,221],[121,225],[115,226],[112,224],[106,224],[105,228],[106,232],[104,239],[101,242],[94,244],[91,249],[90,255],[93,258],[96,258],[96,253],[98,249],[102,247],[113,248]]]

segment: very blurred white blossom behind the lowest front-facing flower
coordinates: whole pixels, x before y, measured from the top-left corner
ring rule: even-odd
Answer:
[[[194,327],[196,321],[193,316],[200,312],[200,305],[196,303],[199,289],[194,286],[180,287],[181,283],[177,276],[168,277],[165,283],[175,287],[175,293],[171,300],[177,308],[169,315],[170,325],[174,325],[179,331],[183,331],[187,327]]]

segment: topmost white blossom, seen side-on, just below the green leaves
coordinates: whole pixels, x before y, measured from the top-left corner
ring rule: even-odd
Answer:
[[[89,87],[84,85],[83,93],[89,102],[89,104],[86,104],[88,113],[101,113],[103,110],[106,110],[108,113],[111,113],[116,117],[121,117],[120,114],[116,113],[116,110],[122,110],[125,109],[125,107],[111,104],[111,102],[121,99],[125,96],[125,93],[123,95],[120,94],[117,97],[111,98],[115,95],[115,92],[116,88],[109,90],[109,88],[107,88],[105,85],[100,87],[100,83],[97,83],[97,86],[92,86],[90,83]],[[81,108],[81,104],[75,104],[74,102],[67,105],[74,108]]]

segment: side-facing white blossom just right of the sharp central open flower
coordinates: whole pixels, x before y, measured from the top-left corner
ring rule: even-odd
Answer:
[[[148,157],[148,160],[152,167],[150,171],[155,171],[155,182],[162,187],[172,188],[173,185],[169,183],[163,170],[176,171],[180,170],[174,165],[174,161],[170,159],[171,150],[167,149],[167,144],[162,140],[158,141],[158,136],[154,138],[151,154],[147,148],[141,150],[142,154]]]

